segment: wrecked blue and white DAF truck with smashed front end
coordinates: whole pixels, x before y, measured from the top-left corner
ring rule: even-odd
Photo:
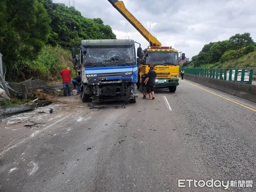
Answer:
[[[135,43],[131,39],[82,40],[76,44],[78,49],[72,48],[74,68],[81,76],[82,102],[136,102]],[[137,57],[141,54],[138,47]]]

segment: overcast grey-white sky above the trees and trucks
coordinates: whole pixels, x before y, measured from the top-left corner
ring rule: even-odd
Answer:
[[[53,0],[65,3],[69,0]],[[70,0],[72,5],[73,0]],[[154,35],[162,46],[172,46],[191,58],[204,44],[223,41],[236,33],[249,32],[256,41],[255,0],[123,0],[126,8]],[[148,42],[108,2],[108,0],[75,0],[84,17],[102,18],[118,39]],[[126,32],[127,31],[127,32]],[[128,35],[127,35],[128,34]]]

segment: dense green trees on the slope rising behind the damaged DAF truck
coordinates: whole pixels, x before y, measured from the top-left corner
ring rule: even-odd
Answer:
[[[68,8],[62,3],[52,3],[52,0],[39,0],[51,17],[51,32],[48,43],[70,48],[72,44],[82,39],[115,39],[112,29],[104,25],[101,18],[88,19],[74,7]]]

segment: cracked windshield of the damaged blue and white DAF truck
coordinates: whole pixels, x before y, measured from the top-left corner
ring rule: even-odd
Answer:
[[[134,45],[88,46],[82,48],[83,63],[88,66],[134,65],[136,54]]]

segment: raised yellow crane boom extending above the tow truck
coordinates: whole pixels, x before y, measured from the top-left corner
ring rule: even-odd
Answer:
[[[150,46],[160,46],[161,43],[155,38],[153,35],[148,32],[148,30],[138,21],[131,12],[128,11],[128,9],[125,8],[125,4],[122,1],[119,0],[108,0],[114,8],[116,8],[117,11],[119,11],[122,16],[125,17],[126,20],[131,23],[132,26],[137,29],[138,32],[147,40],[149,41]]]

